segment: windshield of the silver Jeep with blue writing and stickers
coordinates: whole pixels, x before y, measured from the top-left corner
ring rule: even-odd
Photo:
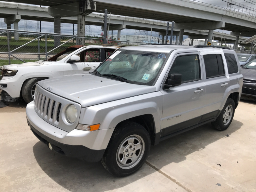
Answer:
[[[119,50],[96,70],[100,76],[106,78],[114,79],[114,76],[109,76],[111,74],[122,77],[132,84],[153,85],[164,66],[167,55],[168,53],[161,52]]]

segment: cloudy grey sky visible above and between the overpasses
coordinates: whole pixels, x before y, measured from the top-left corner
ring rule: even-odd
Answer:
[[[256,0],[191,0],[195,1],[197,3],[205,3],[205,4],[211,4],[215,6],[219,6],[222,8],[227,8],[228,9],[244,9],[245,7],[251,7],[256,9]],[[2,2],[2,1],[0,1]],[[11,2],[8,2],[11,3]],[[234,4],[234,5],[229,5],[229,4]],[[40,22],[39,21],[32,21],[32,20],[20,20],[19,22],[19,29],[20,30],[30,30],[30,31],[40,31],[39,30]],[[6,28],[6,24],[4,23],[4,19],[0,19],[0,28]],[[13,24],[12,24],[13,28]],[[48,32],[48,33],[53,33],[53,22],[41,22],[41,31],[42,32]],[[90,33],[89,33],[90,31]],[[217,29],[215,30],[217,32],[222,32],[222,29]],[[102,30],[101,26],[91,26],[89,27],[86,26],[86,35],[90,36],[100,36]],[[133,29],[123,29],[121,31],[121,35],[135,35],[136,32]],[[229,34],[229,31],[223,31],[224,33]],[[67,34],[67,35],[73,35],[73,24],[68,24],[68,23],[61,23],[61,33],[62,34]],[[77,33],[77,24],[74,24],[74,34],[76,35]],[[150,31],[148,31],[148,35],[150,35]],[[109,32],[111,34],[111,32]],[[113,31],[113,35],[117,35],[117,31]],[[152,36],[158,36],[157,32],[152,32]],[[187,38],[188,36],[184,36],[184,39]]]

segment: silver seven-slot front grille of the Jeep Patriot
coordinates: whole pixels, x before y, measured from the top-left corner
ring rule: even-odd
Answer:
[[[51,98],[46,97],[44,94],[36,90],[35,93],[35,110],[38,114],[54,124],[59,124],[61,103]]]

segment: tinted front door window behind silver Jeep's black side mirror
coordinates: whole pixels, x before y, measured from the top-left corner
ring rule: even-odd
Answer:
[[[172,73],[181,74],[181,83],[200,80],[201,74],[198,55],[182,55],[177,57],[172,64],[169,75]]]

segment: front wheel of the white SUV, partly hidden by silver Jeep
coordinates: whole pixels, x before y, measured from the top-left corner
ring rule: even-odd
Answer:
[[[35,88],[38,81],[44,80],[46,78],[31,78],[25,81],[22,86],[21,94],[22,98],[26,103],[30,103],[34,100]]]

